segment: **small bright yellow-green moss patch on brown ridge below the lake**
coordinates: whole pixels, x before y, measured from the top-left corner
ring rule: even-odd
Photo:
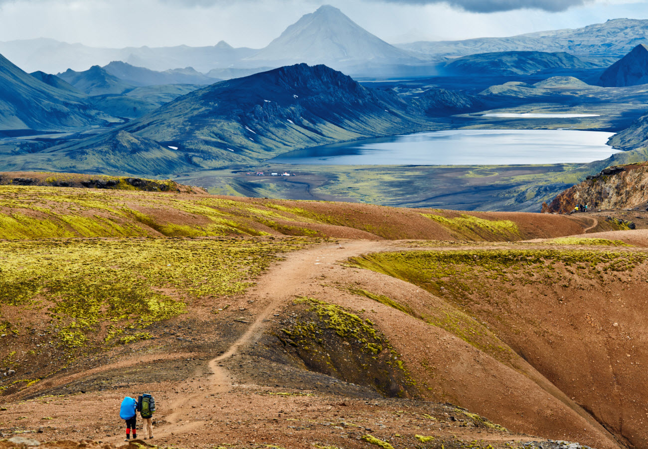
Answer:
[[[487,220],[466,213],[459,217],[447,218],[443,215],[422,213],[452,230],[452,234],[461,240],[483,240],[483,241],[517,241],[522,240],[520,229],[510,220]]]

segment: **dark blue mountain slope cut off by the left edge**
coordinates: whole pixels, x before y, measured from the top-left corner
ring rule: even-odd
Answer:
[[[80,98],[45,84],[0,55],[0,129],[61,130],[117,120]]]

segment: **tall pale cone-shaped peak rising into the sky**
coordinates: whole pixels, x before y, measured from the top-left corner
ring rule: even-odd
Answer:
[[[338,8],[321,6],[290,25],[264,49],[245,59],[261,65],[275,62],[326,64],[332,67],[420,62],[408,52],[377,38]]]

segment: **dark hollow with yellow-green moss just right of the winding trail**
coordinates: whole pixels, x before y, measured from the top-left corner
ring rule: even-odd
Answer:
[[[408,369],[373,322],[314,298],[295,300],[298,317],[277,338],[307,369],[373,387],[385,396],[418,396]]]

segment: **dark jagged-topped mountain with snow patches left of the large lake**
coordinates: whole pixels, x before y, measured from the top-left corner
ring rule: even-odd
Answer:
[[[425,128],[424,116],[409,108],[391,91],[365,88],[327,66],[297,64],[192,91],[124,129],[218,167]]]

